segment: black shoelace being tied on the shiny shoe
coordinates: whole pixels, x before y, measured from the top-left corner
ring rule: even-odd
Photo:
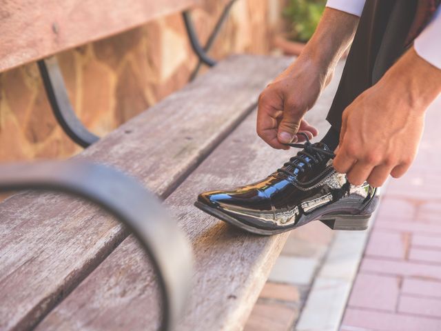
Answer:
[[[289,161],[283,165],[283,168],[277,170],[278,172],[284,172],[289,176],[295,176],[296,174],[294,174],[294,172],[290,172],[286,169],[288,165],[291,165],[291,167],[298,169],[300,172],[305,172],[305,168],[303,168],[302,165],[295,163],[295,161],[300,161],[304,165],[307,165],[308,168],[311,168],[312,165],[310,161],[312,161],[312,163],[319,163],[320,161],[323,161],[324,157],[330,157],[331,159],[334,159],[334,157],[336,157],[336,154],[334,154],[330,150],[325,150],[324,148],[313,146],[305,132],[298,132],[298,134],[301,134],[303,137],[305,137],[305,143],[287,143],[286,145],[294,148],[303,148],[303,150],[300,150],[300,152],[298,152],[295,157],[291,157],[291,159],[289,159]],[[307,159],[307,157],[309,157],[309,160]]]

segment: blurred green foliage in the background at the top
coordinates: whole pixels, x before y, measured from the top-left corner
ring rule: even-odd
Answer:
[[[289,0],[283,15],[292,22],[291,39],[308,41],[325,10],[326,0]]]

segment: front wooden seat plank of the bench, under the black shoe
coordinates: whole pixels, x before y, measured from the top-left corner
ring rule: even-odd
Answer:
[[[308,114],[322,134],[329,127],[326,112],[341,68]],[[256,181],[294,154],[266,146],[256,137],[255,123],[255,114],[250,114],[165,201],[192,241],[196,260],[194,286],[180,331],[242,330],[287,238],[287,234],[247,234],[193,206],[199,192]],[[156,330],[159,312],[152,268],[130,236],[37,330]]]

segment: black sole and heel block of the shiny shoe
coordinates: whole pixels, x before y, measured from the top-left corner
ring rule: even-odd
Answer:
[[[209,207],[200,201],[196,201],[194,205],[222,221],[225,221],[231,225],[236,226],[237,228],[241,228],[247,232],[251,232],[254,234],[260,234],[263,236],[270,236],[272,234],[279,234],[287,231],[294,230],[295,228],[283,228],[283,229],[275,229],[275,230],[265,230],[255,228],[246,223],[242,223],[235,219],[234,217],[229,216],[229,214],[225,214],[221,210],[216,208]],[[332,230],[349,230],[349,231],[362,231],[367,230],[369,226],[369,219],[371,215],[322,215],[317,219],[317,221],[321,221],[325,225],[327,225]]]

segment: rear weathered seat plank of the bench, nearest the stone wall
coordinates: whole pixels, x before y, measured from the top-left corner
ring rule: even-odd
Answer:
[[[289,62],[229,58],[78,157],[113,165],[167,197]],[[71,197],[24,192],[1,203],[0,330],[37,323],[125,237],[105,212]]]

